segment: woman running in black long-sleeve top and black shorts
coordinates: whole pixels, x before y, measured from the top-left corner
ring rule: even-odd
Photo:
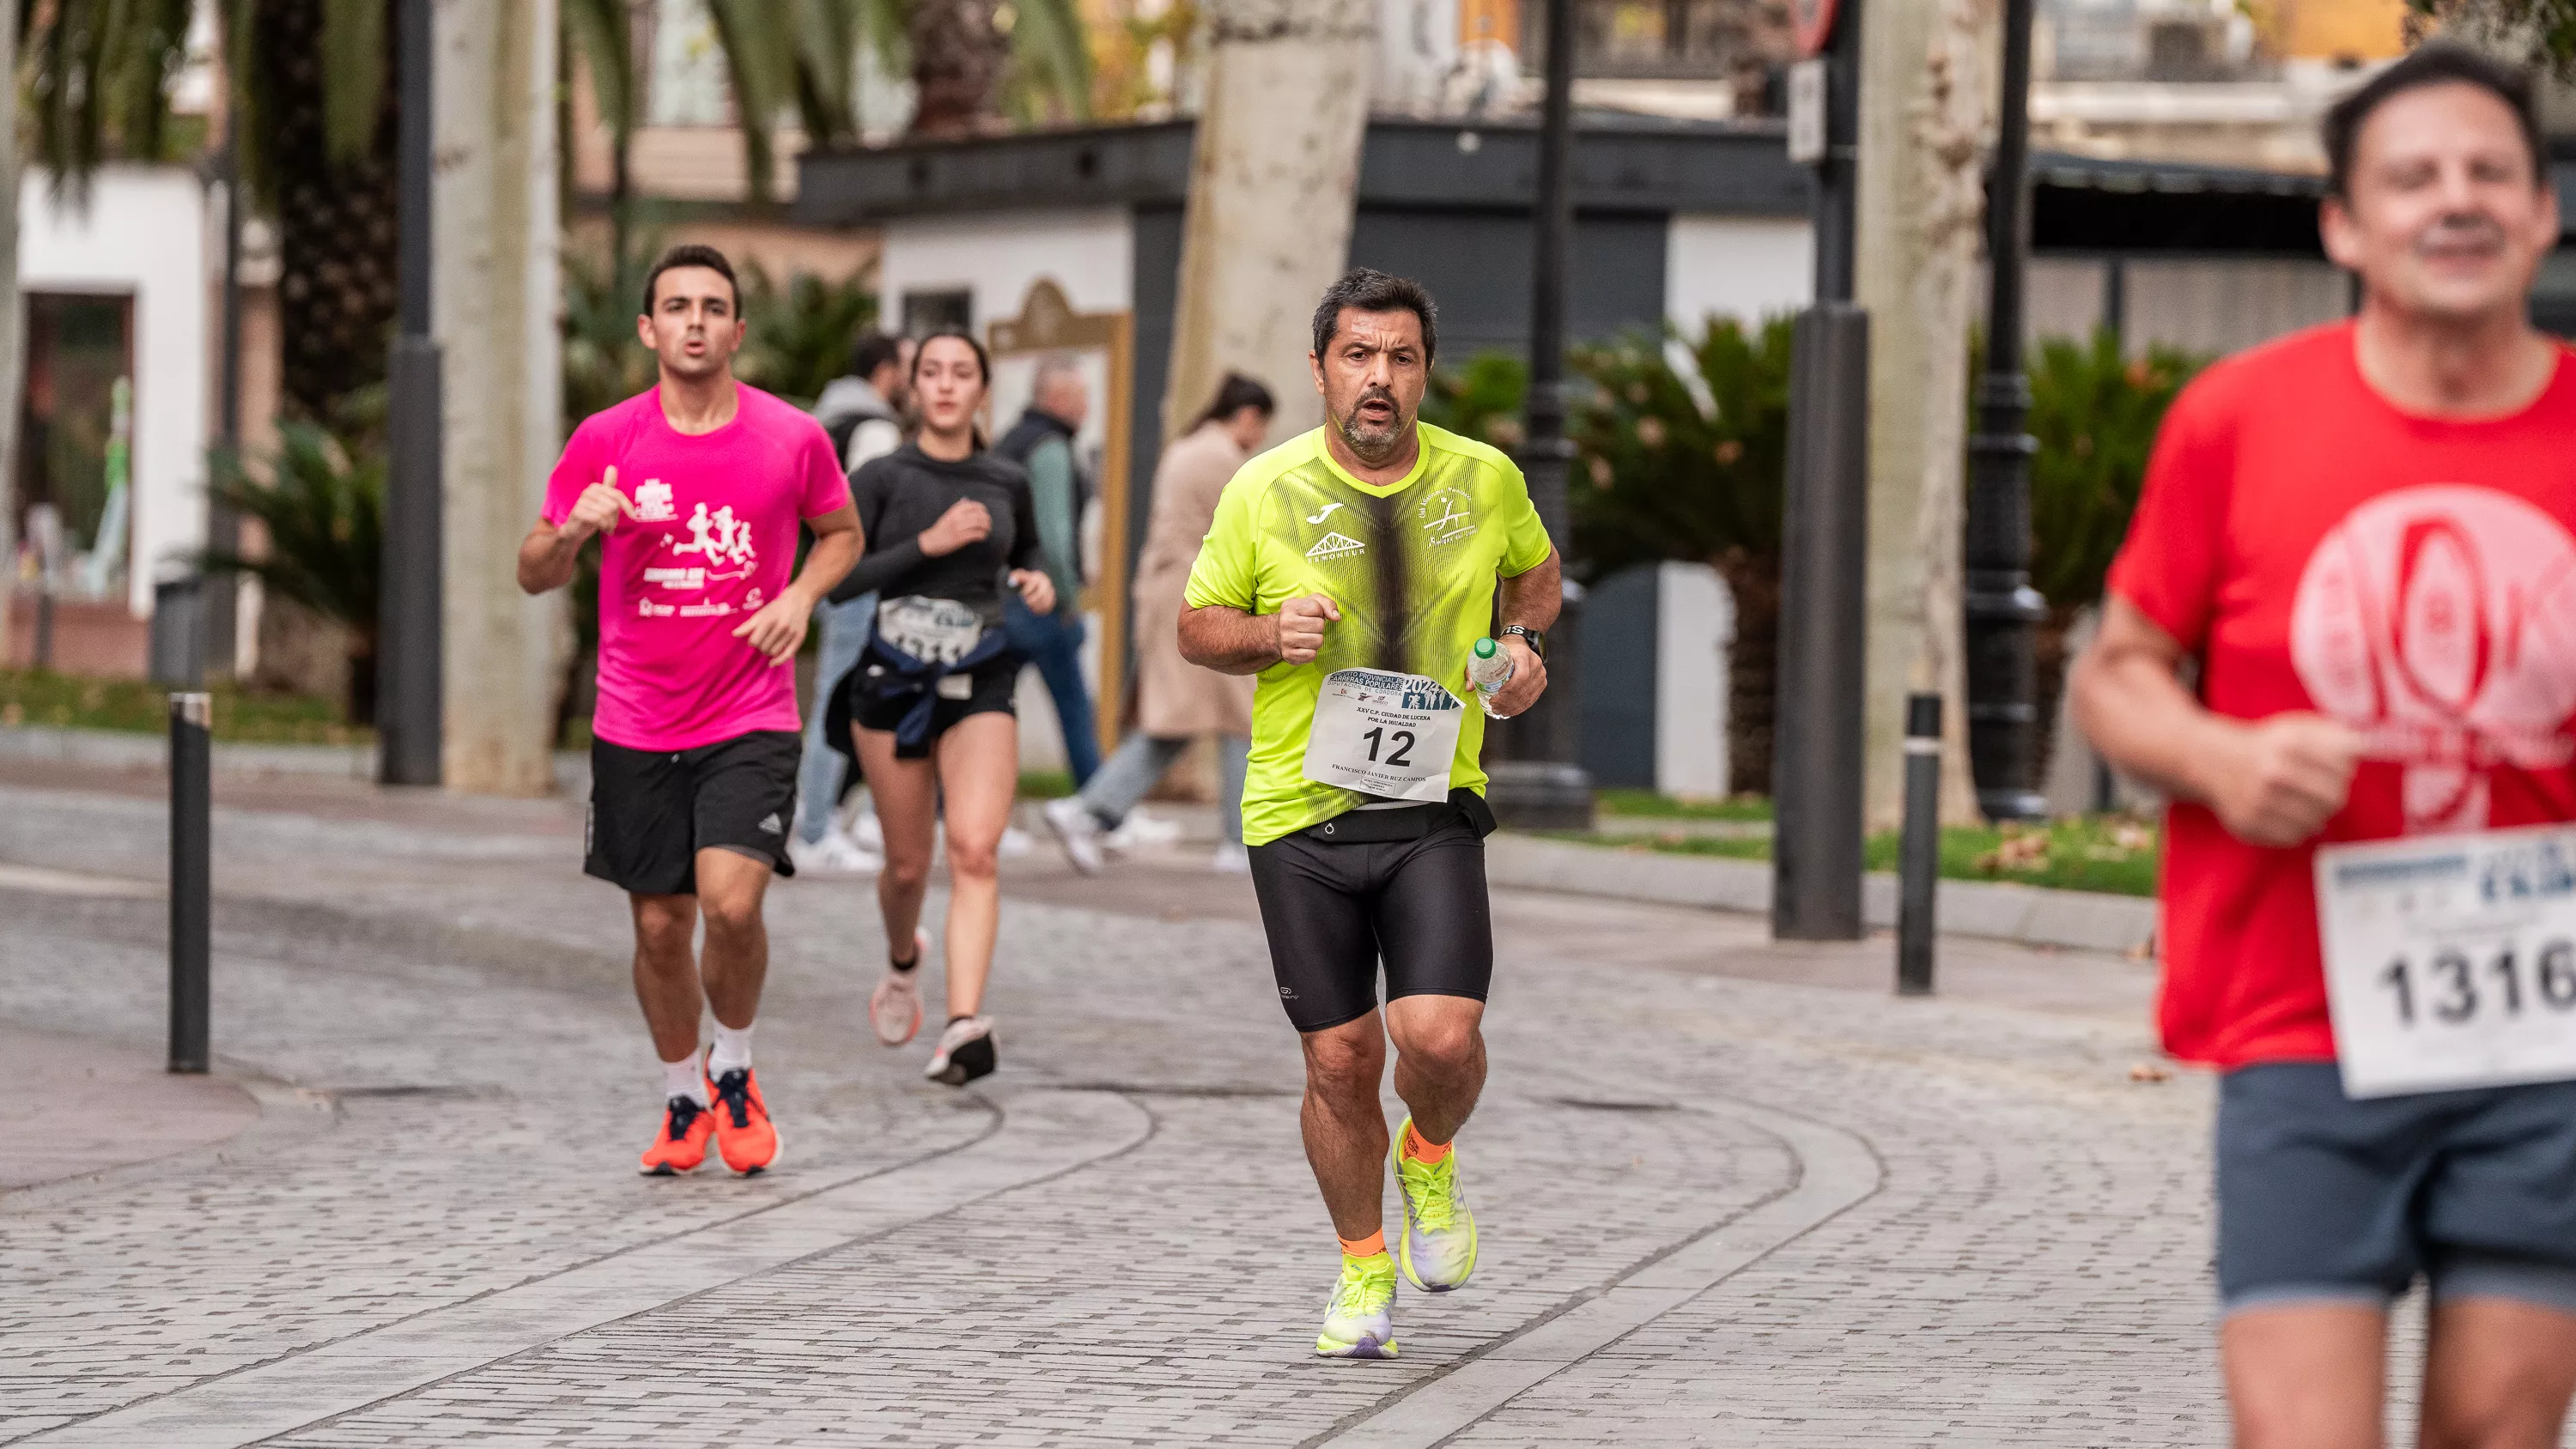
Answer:
[[[1020,721],[1010,708],[1020,659],[1002,641],[1002,589],[1056,607],[1038,566],[1028,474],[984,453],[974,414],[992,363],[966,332],[933,332],[912,353],[922,432],[858,468],[850,497],[868,551],[835,600],[878,592],[876,633],[850,674],[845,708],[868,795],[886,829],[876,903],[886,916],[886,975],[868,1019],[886,1045],[920,1029],[920,927],[930,849],[948,824],[948,1027],[922,1073],[963,1086],[994,1068],[981,1014],[1002,924],[994,854],[1020,788]],[[894,945],[902,942],[902,945]]]

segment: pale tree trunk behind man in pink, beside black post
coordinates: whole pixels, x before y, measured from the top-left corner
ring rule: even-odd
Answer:
[[[564,595],[518,589],[518,540],[564,438],[556,329],[554,0],[440,0],[433,335],[446,350],[446,780],[554,790]]]

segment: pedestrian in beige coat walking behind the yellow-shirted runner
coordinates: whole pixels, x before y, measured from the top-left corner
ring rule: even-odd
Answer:
[[[1180,592],[1198,561],[1198,543],[1216,517],[1216,497],[1270,432],[1270,389],[1226,373],[1216,401],[1154,468],[1154,510],[1136,561],[1136,728],[1079,795],[1046,806],[1074,870],[1103,867],[1100,836],[1118,829],[1136,800],[1162,780],[1180,752],[1216,736],[1218,826],[1216,870],[1249,870],[1244,857],[1244,762],[1252,754],[1252,677],[1200,669],[1180,656]]]

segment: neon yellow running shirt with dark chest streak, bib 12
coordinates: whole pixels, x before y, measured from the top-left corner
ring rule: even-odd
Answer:
[[[1306,777],[1306,731],[1334,669],[1430,674],[1461,700],[1468,651],[1494,628],[1497,574],[1548,561],[1548,530],[1530,486],[1499,450],[1419,425],[1422,456],[1394,484],[1363,484],[1303,432],[1244,463],[1216,502],[1190,569],[1188,607],[1278,613],[1324,595],[1342,618],[1324,625],[1311,664],[1273,664],[1252,695],[1252,770],[1244,844],[1329,821],[1368,800]],[[1466,708],[1450,788],[1484,793],[1484,710]]]

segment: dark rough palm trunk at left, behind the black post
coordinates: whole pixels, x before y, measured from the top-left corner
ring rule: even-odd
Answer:
[[[250,44],[260,51],[260,72],[273,95],[286,407],[299,417],[332,422],[343,396],[384,381],[394,340],[399,88],[386,75],[366,154],[332,157],[322,118],[322,8],[325,0],[258,0]],[[394,28],[384,28],[384,64],[392,62]]]

